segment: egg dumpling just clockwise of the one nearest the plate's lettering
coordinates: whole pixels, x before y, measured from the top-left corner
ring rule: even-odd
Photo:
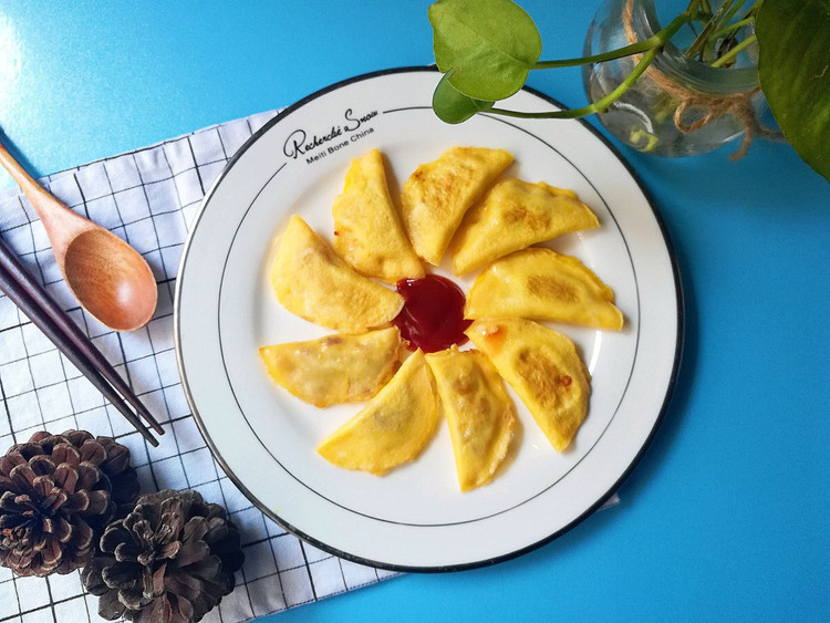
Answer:
[[[404,183],[402,217],[415,252],[438,266],[465,212],[513,157],[504,149],[453,147]]]

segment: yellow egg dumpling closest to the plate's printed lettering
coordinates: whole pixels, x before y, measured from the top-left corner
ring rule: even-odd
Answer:
[[[352,160],[332,216],[334,250],[361,274],[387,283],[424,277],[392,203],[380,150]]]

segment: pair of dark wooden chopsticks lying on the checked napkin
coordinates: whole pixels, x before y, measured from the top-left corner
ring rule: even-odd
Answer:
[[[66,359],[90,380],[147,442],[153,446],[158,446],[158,440],[138,416],[143,417],[159,435],[164,435],[162,425],[156,422],[147,407],[142,404],[129,386],[110,365],[101,351],[81,332],[43,287],[29,274],[1,238],[0,290],[66,355]],[[127,403],[133,406],[135,412],[127,406]]]

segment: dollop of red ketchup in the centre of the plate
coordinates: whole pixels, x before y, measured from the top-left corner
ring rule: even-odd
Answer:
[[[471,321],[464,319],[464,292],[449,279],[437,274],[402,279],[396,289],[405,303],[392,322],[411,351],[435,353],[467,341],[464,331]]]

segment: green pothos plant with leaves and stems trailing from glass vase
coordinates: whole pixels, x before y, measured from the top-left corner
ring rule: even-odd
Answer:
[[[489,112],[531,118],[575,118],[604,111],[645,72],[686,24],[697,37],[685,53],[729,68],[758,46],[758,79],[785,138],[830,180],[830,0],[691,0],[653,37],[593,56],[540,61],[542,42],[533,20],[511,0],[439,0],[429,7],[434,52],[444,73],[433,108],[447,123]],[[619,87],[574,110],[521,112],[496,102],[519,91],[535,70],[601,63],[639,54]]]

